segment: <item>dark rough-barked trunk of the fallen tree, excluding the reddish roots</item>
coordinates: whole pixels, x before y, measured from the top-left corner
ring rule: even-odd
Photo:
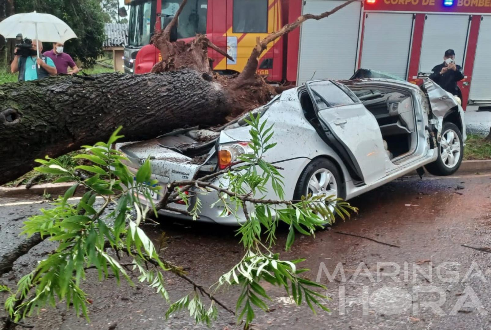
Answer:
[[[0,184],[56,157],[106,140],[123,126],[126,141],[185,125],[225,123],[226,90],[193,70],[163,74],[60,76],[0,86]]]

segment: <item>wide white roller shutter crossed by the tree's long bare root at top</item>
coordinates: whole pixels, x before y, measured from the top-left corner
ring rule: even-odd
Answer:
[[[306,0],[303,13],[321,14],[339,0]],[[325,20],[302,24],[298,83],[310,79],[347,79],[356,66],[361,2],[354,2]]]

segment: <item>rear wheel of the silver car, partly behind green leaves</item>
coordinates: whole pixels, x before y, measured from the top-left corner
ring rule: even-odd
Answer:
[[[341,179],[338,168],[326,158],[317,158],[310,162],[302,171],[295,188],[294,200],[302,196],[332,195],[332,199],[346,198],[346,187]],[[331,211],[333,206],[329,206]]]

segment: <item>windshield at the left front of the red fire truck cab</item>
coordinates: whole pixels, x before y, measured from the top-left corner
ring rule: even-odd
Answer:
[[[132,4],[129,20],[129,46],[148,45],[153,29],[152,16],[152,1],[135,1]]]

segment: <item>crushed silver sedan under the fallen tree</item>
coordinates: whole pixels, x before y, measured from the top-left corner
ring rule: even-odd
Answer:
[[[422,86],[385,78],[310,81],[254,112],[274,124],[271,142],[277,145],[265,159],[283,168],[285,198],[291,200],[307,194],[350,200],[414,170],[421,173],[422,167],[434,175],[450,175],[464,153],[464,111],[430,79]],[[248,141],[249,127],[240,119],[219,133],[193,127],[118,148],[134,172],[149,158],[152,178],[166,189],[170,182],[231,166],[249,152]],[[158,201],[163,193],[152,198]],[[275,198],[272,189],[270,195]],[[201,195],[200,200],[199,221],[238,225],[233,215],[220,216],[223,207],[215,203],[216,194]]]

